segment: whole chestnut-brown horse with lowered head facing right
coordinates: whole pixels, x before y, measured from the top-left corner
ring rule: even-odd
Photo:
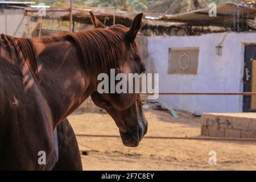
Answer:
[[[129,30],[104,28],[92,14],[94,30],[40,39],[1,35],[0,169],[46,169],[38,162],[40,152],[49,163],[53,131],[89,96],[112,116],[123,144],[138,146],[147,131],[139,94],[100,94],[97,76],[110,68],[144,72],[135,40],[142,16]]]

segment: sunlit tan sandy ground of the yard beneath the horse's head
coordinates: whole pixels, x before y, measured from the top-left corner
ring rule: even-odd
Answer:
[[[147,136],[197,137],[200,118],[179,112],[146,110]],[[108,114],[79,113],[68,117],[76,134],[119,135]],[[256,170],[256,143],[202,140],[143,139],[137,148],[125,147],[121,138],[77,137],[85,170]],[[209,151],[217,152],[210,165]]]

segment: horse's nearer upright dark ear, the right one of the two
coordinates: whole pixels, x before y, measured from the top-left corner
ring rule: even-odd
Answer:
[[[127,36],[129,36],[129,39],[131,40],[131,42],[135,40],[139,30],[141,30],[142,17],[143,17],[143,13],[136,15],[133,20],[133,23],[131,24],[130,30],[127,32]]]

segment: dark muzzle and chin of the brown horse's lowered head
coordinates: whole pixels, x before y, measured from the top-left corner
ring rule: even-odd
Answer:
[[[142,121],[139,122],[139,125],[133,127],[127,133],[119,131],[123,145],[127,147],[137,147],[139,145],[139,142],[141,142],[147,133],[147,120],[144,118],[141,119]]]

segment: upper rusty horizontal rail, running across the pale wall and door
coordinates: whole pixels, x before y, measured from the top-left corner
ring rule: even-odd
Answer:
[[[141,93],[142,95],[223,95],[223,96],[256,96],[256,92],[159,92],[159,93]]]

